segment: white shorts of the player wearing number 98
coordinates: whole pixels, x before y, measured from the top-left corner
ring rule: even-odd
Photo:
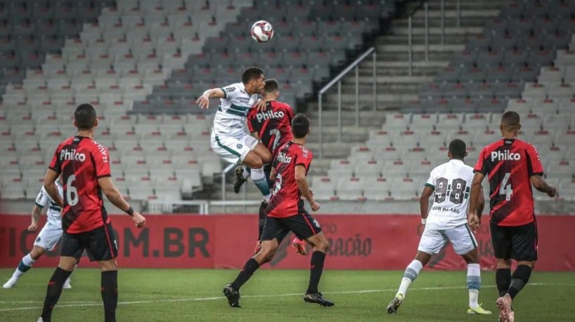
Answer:
[[[419,241],[418,250],[428,254],[437,254],[447,245],[448,241],[451,242],[453,250],[458,255],[467,254],[477,247],[477,240],[471,229],[467,227],[467,224],[463,224],[445,230],[425,228]]]

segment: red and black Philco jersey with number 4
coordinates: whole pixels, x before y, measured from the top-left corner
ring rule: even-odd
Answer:
[[[522,140],[501,139],[482,149],[474,168],[489,178],[491,222],[521,226],[535,220],[531,176],[543,175],[535,147]]]

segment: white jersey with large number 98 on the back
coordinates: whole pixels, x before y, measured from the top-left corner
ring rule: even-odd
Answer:
[[[451,229],[467,222],[472,180],[473,168],[461,160],[451,159],[432,170],[425,185],[434,189],[434,201],[425,229]]]

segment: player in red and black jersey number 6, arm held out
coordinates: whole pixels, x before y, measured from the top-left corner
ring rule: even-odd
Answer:
[[[134,211],[112,182],[108,149],[93,140],[98,126],[96,110],[82,104],[74,112],[74,125],[78,133],[58,145],[46,171],[44,189],[62,209],[62,248],[60,262],[54,271],[38,321],[51,321],[52,311],[64,281],[72,273],[76,258],[84,250],[91,261],[98,261],[101,274],[101,295],[105,321],[116,321],[118,283],[116,260],[118,250],[112,223],[104,208],[102,194],[134,220],[136,227],[146,224],[146,219]],[[62,175],[62,199],[58,195],[56,179]]]

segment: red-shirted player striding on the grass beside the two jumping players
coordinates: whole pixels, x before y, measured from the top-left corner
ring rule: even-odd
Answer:
[[[304,147],[306,136],[309,134],[309,119],[303,114],[297,114],[292,119],[292,134],[293,140],[280,147],[278,157],[274,161],[275,185],[273,197],[266,209],[266,222],[261,233],[261,250],[245,262],[235,281],[224,288],[224,295],[228,298],[230,307],[240,307],[240,287],[262,264],[272,260],[283,237],[290,231],[313,246],[309,286],[304,301],[324,307],[331,307],[334,304],[318,291],[325,251],[329,246],[328,240],[325,239],[317,220],[304,209],[304,201],[301,198],[303,196],[309,201],[311,210],[319,210],[320,204],[315,201],[306,180],[313,156],[311,151]]]

